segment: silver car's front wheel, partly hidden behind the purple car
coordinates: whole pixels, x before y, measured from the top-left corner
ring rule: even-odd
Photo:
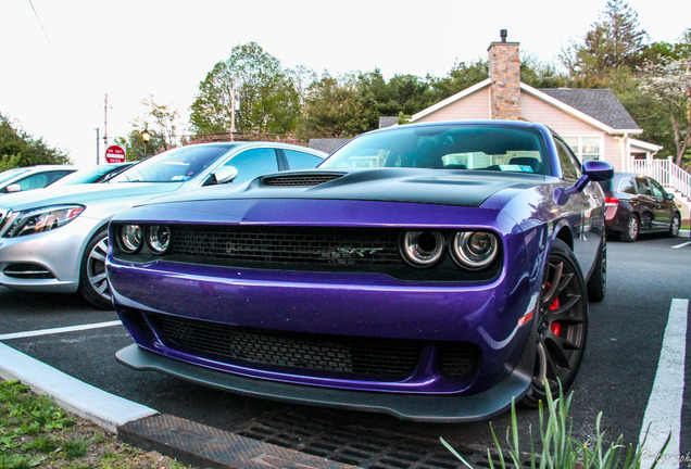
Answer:
[[[111,289],[105,277],[108,255],[108,227],[103,227],[89,241],[79,268],[79,294],[101,309],[112,309]]]

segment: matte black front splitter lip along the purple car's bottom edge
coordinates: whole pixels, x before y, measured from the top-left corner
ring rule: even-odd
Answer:
[[[404,420],[440,423],[483,420],[502,414],[511,407],[512,398],[519,401],[530,385],[530,375],[515,369],[491,389],[468,396],[382,394],[304,386],[229,375],[147,352],[136,344],[120,350],[115,356],[120,363],[136,370],[160,371],[205,386],[252,397],[374,411]]]

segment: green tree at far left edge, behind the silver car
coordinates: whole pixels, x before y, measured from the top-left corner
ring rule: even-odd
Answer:
[[[0,114],[0,170],[39,164],[70,164],[70,157],[48,147],[24,130],[15,128],[10,119]]]

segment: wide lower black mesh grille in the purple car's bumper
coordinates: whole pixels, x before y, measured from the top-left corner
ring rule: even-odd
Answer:
[[[231,360],[318,372],[402,379],[419,360],[414,341],[285,334],[165,315],[149,315],[165,340]]]

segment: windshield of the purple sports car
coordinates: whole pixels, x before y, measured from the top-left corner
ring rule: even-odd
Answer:
[[[488,169],[549,175],[537,129],[497,125],[401,126],[347,143],[319,167]]]

